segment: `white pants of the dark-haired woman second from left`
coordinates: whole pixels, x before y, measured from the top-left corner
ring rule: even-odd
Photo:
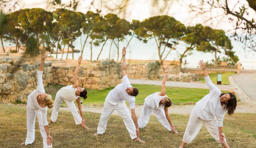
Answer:
[[[56,122],[57,117],[58,117],[58,112],[60,110],[60,106],[61,106],[63,100],[66,102],[69,111],[72,113],[76,124],[81,124],[82,118],[77,112],[76,105],[75,105],[74,101],[67,101],[67,100],[63,99],[60,95],[58,95],[58,93],[55,96],[54,106],[53,106],[52,115],[51,115],[51,121]]]

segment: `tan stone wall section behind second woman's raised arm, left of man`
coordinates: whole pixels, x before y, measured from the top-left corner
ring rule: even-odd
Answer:
[[[74,84],[76,66],[53,66],[53,83],[60,85]],[[81,65],[78,74],[80,87],[89,89],[105,89],[121,83],[121,64],[113,60],[105,60],[92,65]]]

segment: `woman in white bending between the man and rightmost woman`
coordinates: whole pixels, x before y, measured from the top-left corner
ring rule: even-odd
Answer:
[[[139,128],[144,128],[147,125],[152,112],[154,112],[161,125],[163,125],[167,130],[172,131],[175,134],[179,134],[175,131],[175,126],[172,124],[168,113],[168,108],[172,105],[172,100],[166,96],[165,90],[168,71],[168,68],[164,71],[165,74],[161,86],[161,92],[155,92],[145,98],[141,115],[138,119]]]

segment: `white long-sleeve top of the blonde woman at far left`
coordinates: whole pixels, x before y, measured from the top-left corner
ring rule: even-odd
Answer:
[[[47,122],[47,106],[45,108],[42,108],[37,101],[37,96],[39,94],[45,93],[44,91],[44,84],[43,84],[43,72],[42,71],[38,71],[37,72],[37,88],[36,90],[34,90],[33,92],[31,92],[28,95],[28,102],[27,105],[32,109],[32,110],[40,110],[41,111],[41,115],[38,115],[37,118],[42,118],[43,121],[43,125],[48,125]]]

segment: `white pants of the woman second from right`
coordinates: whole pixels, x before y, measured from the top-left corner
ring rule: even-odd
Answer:
[[[155,113],[157,120],[169,131],[172,131],[171,125],[166,119],[164,109],[152,109],[147,103],[144,102],[143,108],[141,110],[140,118],[138,119],[139,128],[144,128],[150,119],[152,112]]]

